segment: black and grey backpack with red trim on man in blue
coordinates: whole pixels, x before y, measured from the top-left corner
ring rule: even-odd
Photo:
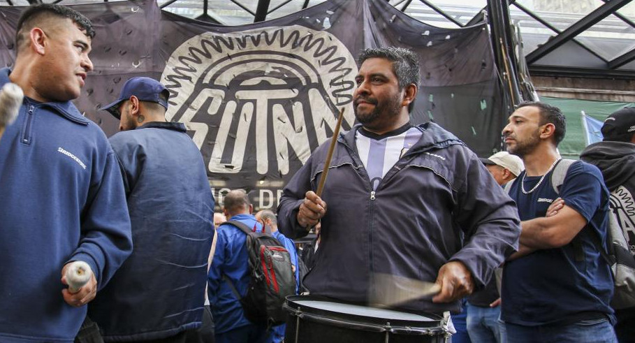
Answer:
[[[249,286],[240,296],[228,277],[223,276],[240,300],[244,316],[251,323],[275,326],[285,322],[282,309],[287,295],[295,295],[295,275],[291,254],[282,243],[268,233],[256,233],[240,221],[227,221],[247,235],[245,245],[249,255]]]

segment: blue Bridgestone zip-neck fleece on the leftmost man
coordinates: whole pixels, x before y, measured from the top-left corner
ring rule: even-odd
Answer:
[[[73,342],[86,307],[64,302],[62,267],[87,262],[101,289],[132,251],[103,131],[70,101],[25,100],[0,141],[0,207],[0,342]]]

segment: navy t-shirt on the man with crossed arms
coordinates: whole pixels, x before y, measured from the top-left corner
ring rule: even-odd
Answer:
[[[509,191],[518,205],[520,220],[544,217],[558,197],[551,186],[551,173],[527,195],[520,191],[523,175],[525,172]],[[532,189],[539,180],[540,177],[525,177],[525,190]],[[614,321],[613,309],[608,305],[613,295],[611,270],[591,236],[599,235],[605,244],[608,190],[599,169],[582,161],[571,164],[560,187],[560,197],[587,219],[587,225],[574,239],[581,243],[583,261],[576,261],[576,249],[570,242],[505,263],[502,319],[506,322],[538,326],[602,314]]]

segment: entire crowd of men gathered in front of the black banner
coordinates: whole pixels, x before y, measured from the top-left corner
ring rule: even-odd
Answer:
[[[330,164],[327,142],[276,212],[254,214],[247,192],[233,190],[214,213],[203,157],[184,124],[166,121],[160,82],[131,78],[101,108],[119,119],[110,138],[75,108],[92,38],[75,10],[31,6],[15,64],[0,70],[0,87],[25,95],[0,140],[0,342],[283,342],[284,323],[245,316],[247,236],[231,221],[289,251],[298,294],[370,305],[409,291],[403,280],[436,284],[390,307],[438,315],[454,342],[465,331],[479,343],[635,340],[635,309],[611,307],[601,252],[611,192],[635,187],[634,108],[567,161],[562,112],[521,103],[502,129],[506,152],[479,159],[439,125],[410,123],[418,56],[370,48],[358,59],[358,124],[337,136]],[[312,231],[298,251],[293,239]],[[75,261],[92,277],[71,290]],[[391,289],[381,275],[395,277]],[[465,300],[466,327],[453,328]]]

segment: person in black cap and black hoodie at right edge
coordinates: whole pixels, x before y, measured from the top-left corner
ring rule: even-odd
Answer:
[[[586,147],[580,159],[594,164],[602,172],[604,183],[611,191],[609,206],[625,233],[631,254],[635,255],[635,108],[622,108],[609,115],[601,132],[604,140]],[[615,316],[618,341],[632,342],[635,308],[615,309]]]

